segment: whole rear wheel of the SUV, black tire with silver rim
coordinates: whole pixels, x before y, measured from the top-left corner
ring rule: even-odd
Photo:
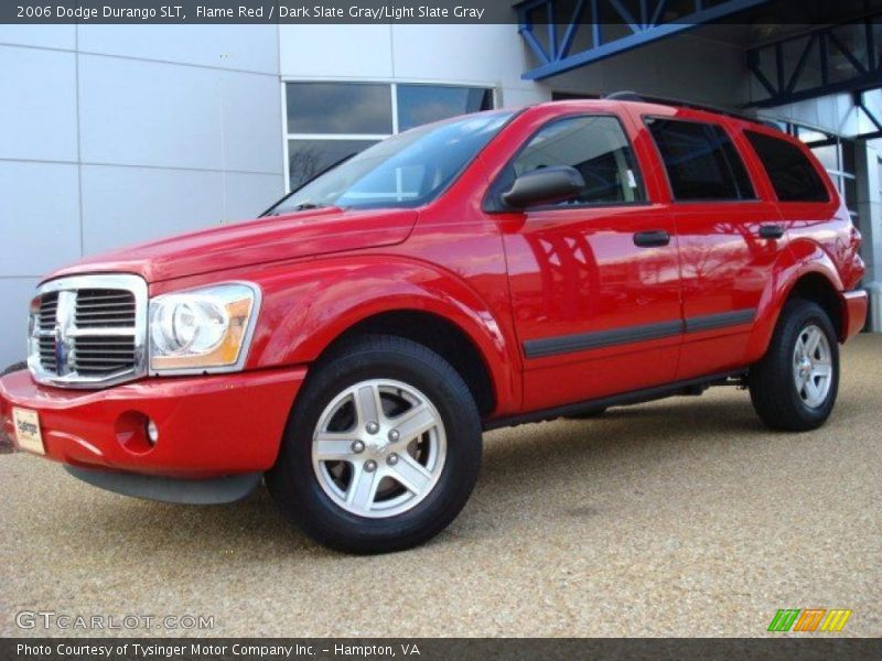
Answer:
[[[768,427],[805,432],[822,425],[839,390],[839,345],[827,313],[810,301],[788,301],[747,383],[753,408]]]

